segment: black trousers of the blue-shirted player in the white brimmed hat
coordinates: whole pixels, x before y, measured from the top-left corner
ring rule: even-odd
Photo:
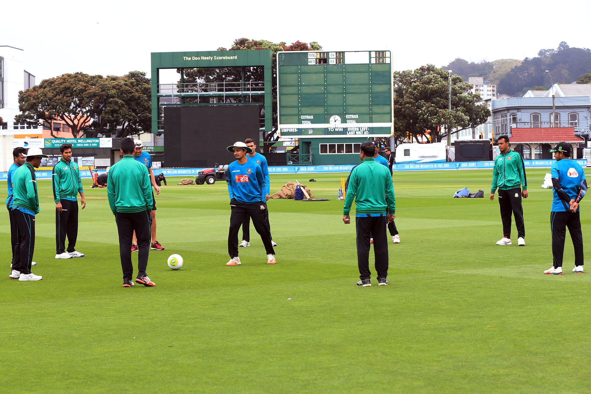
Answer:
[[[261,207],[263,208],[261,209]],[[262,201],[253,204],[244,204],[233,198],[230,200],[230,208],[232,208],[232,214],[230,214],[230,231],[228,232],[228,254],[230,255],[230,259],[238,256],[238,231],[247,217],[252,218],[252,224],[256,232],[261,235],[262,244],[265,246],[267,254],[275,254],[275,250],[271,245],[271,230],[269,230],[268,224],[267,204]]]

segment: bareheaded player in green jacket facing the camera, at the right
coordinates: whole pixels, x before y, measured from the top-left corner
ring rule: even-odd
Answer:
[[[491,200],[499,190],[499,206],[503,222],[503,238],[497,245],[511,245],[511,214],[517,227],[517,244],[525,246],[525,224],[521,198],[527,198],[527,177],[521,155],[509,148],[509,137],[501,135],[498,140],[501,154],[496,156],[492,171]]]

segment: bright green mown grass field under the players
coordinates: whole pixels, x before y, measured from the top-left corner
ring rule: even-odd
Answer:
[[[355,225],[336,201],[343,173],[272,175],[272,191],[297,178],[331,201],[269,201],[277,264],[251,228],[237,267],[225,266],[225,183],[171,177],[157,198],[166,250],[150,251],[154,288],[122,288],[106,190],[89,180],[77,243],[86,257],[54,259],[51,183],[40,181],[33,272],[43,280],[8,279],[6,212],[0,227],[0,392],[591,392],[591,272],[571,272],[567,235],[564,275],[543,274],[546,172],[528,170],[526,247],[515,227],[513,245],[495,245],[491,171],[395,172],[402,242],[389,244],[388,286],[376,286],[370,257],[371,288],[355,286]],[[453,199],[463,186],[485,198]],[[172,253],[181,270],[168,269]]]

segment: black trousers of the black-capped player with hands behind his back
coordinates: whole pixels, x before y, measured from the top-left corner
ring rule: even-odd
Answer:
[[[574,265],[583,265],[583,233],[579,212],[550,212],[550,230],[552,231],[552,258],[554,267],[562,267],[564,237],[569,227],[570,238],[574,246]]]

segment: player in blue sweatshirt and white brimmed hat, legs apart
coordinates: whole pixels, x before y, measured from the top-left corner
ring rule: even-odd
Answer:
[[[243,142],[229,146],[236,161],[228,166],[228,193],[230,195],[230,231],[228,234],[228,253],[230,261],[226,266],[241,264],[238,258],[238,231],[246,215],[250,215],[256,232],[261,235],[262,244],[267,251],[267,264],[275,264],[275,250],[271,245],[271,231],[267,225],[267,182],[262,175],[261,166],[248,160],[246,153],[252,149]]]

